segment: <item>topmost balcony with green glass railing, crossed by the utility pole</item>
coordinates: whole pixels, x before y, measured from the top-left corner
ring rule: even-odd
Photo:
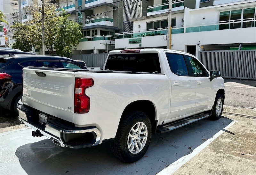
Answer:
[[[148,6],[147,16],[156,14],[156,11],[158,13],[166,13],[168,11],[168,7],[168,3]],[[184,0],[172,2],[172,11],[178,10],[184,10]]]

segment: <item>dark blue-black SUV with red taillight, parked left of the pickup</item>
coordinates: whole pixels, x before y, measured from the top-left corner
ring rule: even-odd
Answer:
[[[22,68],[28,66],[86,69],[70,58],[41,55],[0,55],[0,106],[18,114],[22,97]]]

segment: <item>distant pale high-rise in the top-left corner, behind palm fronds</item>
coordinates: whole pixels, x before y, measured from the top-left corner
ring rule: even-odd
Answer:
[[[2,23],[2,25],[0,26],[0,35],[3,36],[3,28],[9,30],[11,25],[19,21],[19,6],[18,0],[0,0],[0,4],[0,10],[4,13],[6,17],[5,20],[8,22],[8,24]],[[12,35],[12,33],[8,33],[8,35]],[[5,37],[7,37],[6,44],[12,47],[12,37]],[[5,37],[0,38],[2,46],[5,45]]]

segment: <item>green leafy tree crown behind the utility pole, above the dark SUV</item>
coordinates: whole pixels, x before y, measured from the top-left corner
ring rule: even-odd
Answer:
[[[30,11],[33,10],[31,9]],[[64,15],[60,15],[63,13]],[[23,35],[24,33],[31,34],[32,32],[33,35],[29,37],[30,44],[36,49],[42,49],[42,12],[41,10],[34,11],[31,15],[33,19],[30,20],[31,24],[28,25],[29,28],[27,28],[27,26],[17,27],[18,24],[11,27],[15,30],[14,35],[21,35],[22,33]],[[64,10],[56,12],[55,4],[44,4],[44,44],[50,55],[53,55],[53,49],[56,49],[57,54],[60,56],[70,53],[72,47],[75,47],[76,49],[79,41],[83,37],[81,33],[81,26],[75,21],[70,21],[68,19],[69,16],[69,14],[65,14]],[[23,37],[20,36],[20,39],[22,38]],[[28,38],[24,37],[22,42],[28,44],[24,41],[27,39]],[[18,41],[16,40],[16,42]],[[15,46],[20,44],[21,42],[19,41]],[[30,44],[25,46],[30,48]]]

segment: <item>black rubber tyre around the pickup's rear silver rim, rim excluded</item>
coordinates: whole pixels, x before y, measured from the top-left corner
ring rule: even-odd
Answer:
[[[148,130],[148,137],[145,146],[137,154],[132,154],[128,148],[128,135],[132,127],[138,123],[143,122]],[[133,163],[140,160],[148,150],[148,146],[152,136],[152,126],[148,116],[139,111],[133,111],[125,115],[123,121],[121,121],[120,126],[116,133],[116,138],[110,143],[110,148],[113,154],[123,162]],[[131,138],[131,137],[130,137]],[[137,139],[138,140],[138,139]],[[135,142],[135,141],[134,141]],[[139,141],[140,142],[140,141]]]

